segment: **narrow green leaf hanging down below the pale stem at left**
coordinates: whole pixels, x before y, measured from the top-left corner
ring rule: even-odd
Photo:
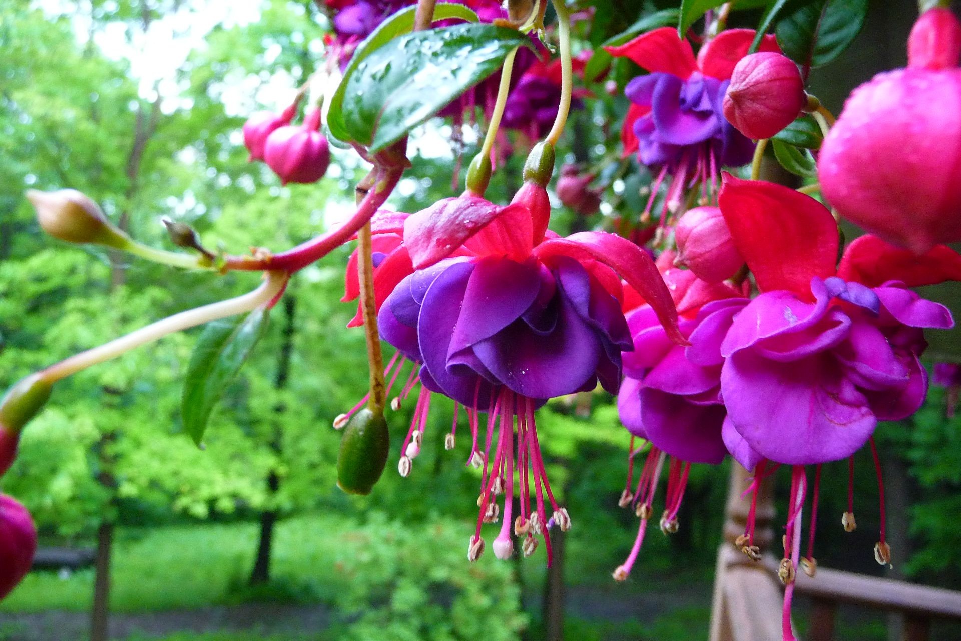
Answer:
[[[184,429],[200,445],[210,411],[234,381],[267,328],[267,312],[256,309],[245,318],[211,321],[197,339],[184,381],[181,413]]]

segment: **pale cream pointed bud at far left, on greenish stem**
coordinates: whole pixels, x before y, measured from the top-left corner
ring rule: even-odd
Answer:
[[[76,189],[30,189],[26,195],[37,210],[40,227],[58,240],[116,249],[130,244],[127,234],[114,227],[97,204]]]

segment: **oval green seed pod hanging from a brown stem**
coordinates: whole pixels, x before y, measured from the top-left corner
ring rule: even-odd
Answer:
[[[344,429],[337,456],[337,487],[348,494],[370,494],[383,474],[389,451],[387,421],[364,407]]]

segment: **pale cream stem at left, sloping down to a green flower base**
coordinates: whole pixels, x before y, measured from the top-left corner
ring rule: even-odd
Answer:
[[[213,303],[202,308],[188,309],[179,314],[168,316],[156,323],[142,327],[135,332],[115,338],[109,343],[104,343],[98,347],[86,350],[86,352],[64,358],[59,363],[40,370],[38,374],[46,382],[57,382],[82,369],[86,369],[90,365],[96,365],[105,360],[118,357],[141,345],[157,340],[168,333],[180,332],[191,327],[196,327],[197,325],[209,323],[209,321],[212,320],[235,316],[268,305],[283,291],[283,286],[286,284],[287,278],[287,274],[283,272],[268,272],[264,283],[248,294],[232,298],[228,301],[220,301],[219,303]]]

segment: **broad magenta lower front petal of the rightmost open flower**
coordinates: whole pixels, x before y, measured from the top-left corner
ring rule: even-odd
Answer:
[[[780,363],[737,352],[725,362],[721,393],[737,431],[779,463],[839,460],[875,431],[867,399],[827,354]]]

